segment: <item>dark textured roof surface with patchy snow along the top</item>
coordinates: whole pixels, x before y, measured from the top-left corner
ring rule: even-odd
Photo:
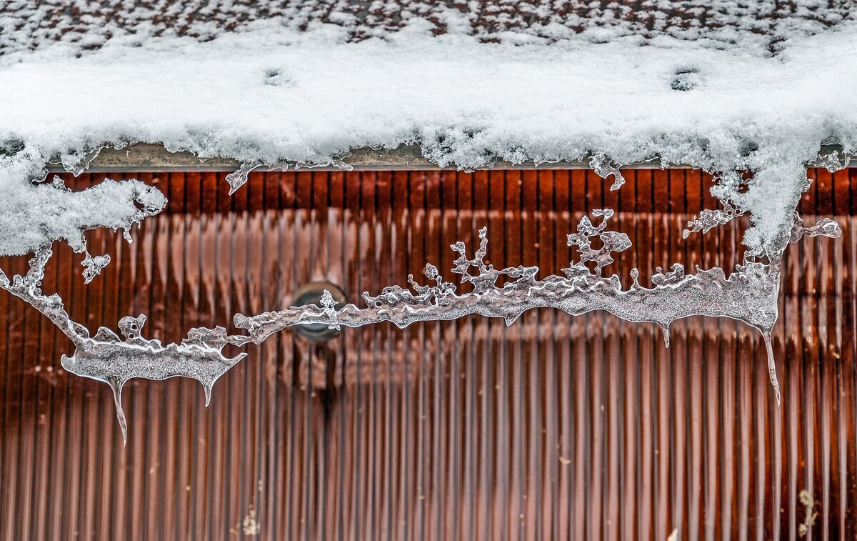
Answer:
[[[254,21],[287,27],[343,27],[348,39],[384,36],[415,19],[434,33],[464,33],[486,41],[592,40],[671,36],[716,47],[761,47],[774,53],[783,39],[818,33],[853,15],[849,0],[149,0],[144,2],[0,3],[0,55],[62,41],[81,51],[115,36],[185,35],[212,39]]]

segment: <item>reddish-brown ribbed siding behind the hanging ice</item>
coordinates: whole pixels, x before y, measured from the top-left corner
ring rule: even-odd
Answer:
[[[810,538],[855,538],[857,170],[811,173],[801,211],[844,236],[788,249],[780,408],[742,323],[676,323],[667,350],[654,325],[542,310],[321,346],[285,332],[207,409],[195,382],[134,381],[123,448],[109,389],[63,373],[68,341],[2,292],[0,538],[227,539],[254,521],[269,539],[795,538],[801,490],[818,501]],[[482,225],[495,265],[557,274],[594,207],[614,207],[634,243],[608,269],[623,280],[738,261],[746,224],[681,241],[688,214],[714,205],[707,177],[629,176],[610,192],[585,171],[270,172],[229,197],[220,174],[146,174],[168,211],[131,245],[89,234],[113,258],[89,286],[57,249],[44,286],[93,330],[146,313],[145,334],[179,340],[310,280],[355,301],[426,262],[452,280],[448,245],[474,245]],[[0,258],[7,274],[25,264]]]

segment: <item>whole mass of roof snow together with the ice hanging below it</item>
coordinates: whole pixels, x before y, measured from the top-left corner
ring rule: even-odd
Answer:
[[[808,187],[806,166],[836,170],[857,150],[857,71],[848,69],[857,22],[848,2],[757,8],[706,0],[694,3],[707,14],[697,20],[668,15],[684,5],[675,2],[642,15],[620,3],[572,2],[561,14],[516,3],[509,15],[494,2],[473,12],[461,3],[409,3],[403,11],[398,3],[367,10],[345,2],[322,16],[316,3],[285,1],[277,16],[236,15],[238,22],[216,14],[195,20],[195,3],[176,3],[168,11],[177,30],[134,3],[74,4],[0,4],[0,255],[34,254],[29,273],[0,274],[0,287],[69,337],[75,352],[63,358],[67,370],[111,386],[123,435],[129,379],[191,377],[208,400],[213,383],[243,358],[225,357],[227,344],[259,343],[304,323],[404,327],[466,314],[513,322],[542,307],[656,322],[667,343],[680,317],[747,322],[764,336],[779,400],[770,332],[783,250],[802,237],[840,234],[830,219],[806,227],[795,213]],[[220,8],[233,4],[237,14],[255,9]],[[109,9],[122,16],[106,16]],[[225,27],[237,30],[219,31]],[[141,335],[145,315],[117,323],[123,338],[109,328],[90,334],[69,319],[62,299],[40,289],[52,243],[85,253],[82,273],[93,280],[110,261],[89,254],[84,231],[122,228],[130,240],[132,225],[165,207],[158,189],[137,181],[105,180],[79,192],[44,182],[51,159],[77,173],[99,148],[132,142],[238,159],[227,177],[231,192],[256,167],[345,166],[340,157],[357,147],[417,145],[437,165],[463,169],[498,159],[573,160],[613,177],[611,189],[624,182],[621,165],[657,160],[715,175],[712,194],[722,207],[694,217],[685,235],[740,215],[752,226],[745,259],[732,272],[686,274],[676,264],[659,269],[652,287],[638,283],[636,269],[627,286],[604,274],[612,254],[631,245],[609,230],[609,209],[569,231],[580,257],[562,276],[495,269],[484,262],[482,230],[472,257],[463,243],[452,245],[453,272],[472,292],[459,294],[427,264],[433,285],[411,278],[412,290],[367,294],[362,308],[337,309],[328,296],[321,306],[237,315],[245,334],[194,328],[181,343],[163,345]],[[839,149],[819,157],[831,142]],[[601,249],[593,248],[595,237]]]

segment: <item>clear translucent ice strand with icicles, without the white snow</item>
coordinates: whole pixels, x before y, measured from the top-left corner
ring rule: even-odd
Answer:
[[[824,158],[824,163],[834,163],[834,158]],[[618,189],[624,179],[618,167],[605,159],[593,159],[593,167],[602,177],[614,175]],[[232,189],[241,185],[249,168],[232,177]],[[159,209],[150,209],[148,214]],[[742,213],[740,208],[727,203],[724,208],[705,210],[688,223],[683,236],[694,231],[709,231]],[[116,403],[117,419],[123,440],[127,440],[127,422],[122,406],[123,386],[133,378],[164,380],[182,376],[201,382],[205,390],[206,405],[211,400],[214,382],[227,370],[243,359],[247,353],[228,358],[223,354],[227,344],[247,346],[260,344],[272,334],[285,328],[309,323],[325,324],[329,328],[361,327],[378,322],[392,322],[405,328],[413,322],[453,320],[476,314],[500,317],[506,325],[512,324],[525,310],[554,308],[572,316],[592,310],[605,310],[628,322],[654,322],[664,334],[665,346],[669,346],[669,326],[677,319],[688,316],[730,317],[757,328],[765,343],[768,357],[770,382],[780,403],[780,389],[776,378],[776,364],[771,344],[771,333],[777,319],[781,261],[788,243],[806,236],[839,237],[842,231],[832,219],[822,219],[816,225],[804,226],[798,213],[794,212],[791,228],[781,231],[765,250],[766,261],[754,261],[745,255],[742,264],[734,272],[726,274],[722,268],[702,269],[695,274],[686,274],[686,269],[675,263],[669,272],[658,267],[651,277],[652,286],[638,282],[638,269],[631,271],[631,285],[623,287],[616,274],[605,275],[604,269],[614,262],[613,254],[631,247],[630,238],[620,231],[608,229],[614,211],[608,208],[594,209],[578,223],[577,231],[567,237],[569,246],[579,254],[578,261],[562,269],[563,275],[549,275],[538,279],[538,267],[506,267],[496,269],[485,261],[488,248],[488,230],[479,230],[479,247],[470,257],[462,242],[450,248],[458,254],[452,272],[458,274],[462,283],[472,286],[471,292],[458,292],[452,282],[444,281],[437,267],[426,264],[423,274],[433,282],[421,285],[408,276],[409,288],[385,287],[376,296],[363,293],[365,307],[346,304],[339,310],[330,292],[321,298],[321,306],[315,304],[292,306],[285,310],[265,312],[256,316],[237,314],[233,318],[236,328],[244,334],[228,334],[223,327],[191,328],[186,338],[178,344],[164,345],[160,340],[143,337],[146,316],[123,317],[118,323],[122,337],[110,328],[100,327],[94,335],[80,323],[74,322],[63,307],[57,294],[45,295],[41,291],[41,280],[45,274],[45,263],[51,257],[50,245],[35,252],[26,275],[15,275],[10,280],[0,270],[0,288],[3,288],[32,304],[51,319],[69,337],[75,346],[74,354],[63,356],[65,370],[77,375],[104,382],[110,386]],[[593,222],[593,219],[595,222]],[[600,248],[592,246],[597,239]],[[84,278],[88,282],[110,262],[106,255],[83,261]],[[500,277],[506,277],[502,286]]]

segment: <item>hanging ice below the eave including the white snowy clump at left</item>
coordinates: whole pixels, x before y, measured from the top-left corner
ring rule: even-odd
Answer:
[[[26,151],[25,151],[26,152]],[[89,154],[72,156],[72,161],[85,162]],[[611,189],[624,183],[620,166],[602,154],[592,154],[590,165],[602,177],[614,175]],[[13,182],[15,178],[34,177],[34,171],[21,168],[21,164],[36,163],[38,157],[28,159],[0,159],[0,182]],[[812,165],[825,166],[831,171],[845,164],[838,153],[824,156]],[[231,191],[239,188],[247,173],[257,166],[255,162],[242,167],[227,180]],[[794,170],[794,171],[793,171]],[[788,181],[800,187],[796,177],[799,168],[788,169],[795,177]],[[770,175],[770,173],[768,173]],[[806,179],[806,175],[803,175]],[[745,189],[748,181],[736,172],[716,177],[713,193],[722,201],[720,209],[706,209],[688,222],[683,237],[691,232],[707,232],[737,216],[751,213]],[[808,188],[803,183],[803,188]],[[749,193],[749,192],[748,192]],[[229,334],[223,327],[191,328],[180,343],[164,345],[160,340],[142,335],[146,316],[126,316],[117,322],[122,338],[110,328],[100,327],[94,334],[73,321],[57,294],[45,295],[41,280],[45,263],[51,257],[51,245],[65,240],[77,252],[86,254],[83,265],[84,280],[93,280],[109,263],[108,255],[90,255],[84,231],[107,227],[123,228],[124,236],[131,240],[130,228],[148,216],[159,213],[166,205],[165,196],[139,181],[114,182],[105,179],[92,188],[71,192],[55,177],[51,183],[23,183],[9,189],[9,196],[0,199],[0,255],[33,253],[30,269],[24,276],[9,279],[0,271],[0,288],[9,291],[33,305],[57,325],[75,346],[74,354],[63,356],[65,370],[89,377],[110,386],[117,409],[117,419],[123,438],[127,436],[127,422],[122,406],[124,385],[134,378],[163,380],[183,376],[201,382],[206,404],[211,400],[214,383],[247,353],[226,357],[227,345],[243,347],[260,344],[272,334],[285,328],[303,324],[324,324],[330,328],[360,327],[377,322],[392,322],[404,328],[413,322],[452,320],[467,315],[500,317],[511,324],[525,310],[555,308],[572,315],[592,310],[605,310],[629,322],[655,322],[664,333],[669,346],[669,326],[676,319],[687,316],[730,317],[758,328],[764,337],[770,381],[779,403],[779,384],[771,346],[771,332],[777,318],[782,253],[789,242],[802,237],[823,235],[838,237],[839,226],[831,219],[822,219],[806,227],[794,205],[800,194],[795,192],[783,199],[776,212],[785,212],[778,219],[786,223],[775,235],[759,236],[748,243],[743,264],[726,274],[722,268],[700,269],[686,274],[685,267],[676,263],[670,272],[660,267],[651,277],[652,287],[638,282],[638,269],[631,272],[632,283],[625,289],[620,278],[605,275],[604,269],[614,262],[614,253],[631,247],[630,238],[620,231],[610,231],[608,225],[614,216],[611,209],[594,209],[584,216],[577,231],[567,237],[569,246],[579,254],[578,261],[562,269],[564,275],[537,278],[538,267],[494,268],[486,261],[488,250],[487,228],[479,230],[476,253],[468,255],[463,242],[452,244],[458,254],[452,273],[458,274],[463,284],[472,291],[458,292],[452,282],[446,282],[438,269],[426,264],[423,274],[434,285],[421,285],[408,276],[411,289],[400,286],[385,287],[377,296],[363,293],[365,307],[346,304],[337,309],[329,292],[315,304],[293,306],[285,310],[265,312],[256,316],[237,314],[235,327],[244,334]],[[752,201],[751,201],[752,202]],[[794,205],[785,211],[788,205]],[[772,211],[773,212],[773,211]],[[788,219],[789,214],[791,219]],[[595,222],[593,221],[595,220]],[[593,247],[593,240],[600,248]],[[598,245],[598,244],[596,244]],[[764,256],[759,258],[759,256]],[[760,262],[764,261],[764,262]],[[499,280],[504,280],[498,285]]]

